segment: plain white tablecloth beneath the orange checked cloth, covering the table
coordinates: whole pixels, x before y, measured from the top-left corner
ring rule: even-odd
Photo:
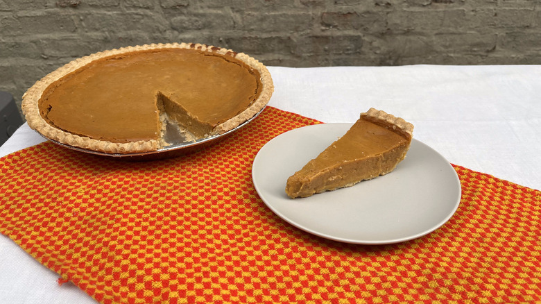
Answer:
[[[269,105],[327,123],[385,110],[413,123],[414,137],[449,162],[541,189],[539,65],[269,70]],[[43,141],[24,124],[0,156]],[[58,277],[0,235],[0,303],[93,302],[71,282],[59,286]]]

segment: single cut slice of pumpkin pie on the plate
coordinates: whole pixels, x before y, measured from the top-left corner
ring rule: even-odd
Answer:
[[[412,124],[370,108],[343,137],[288,178],[286,194],[307,197],[388,174],[406,157],[412,136]]]

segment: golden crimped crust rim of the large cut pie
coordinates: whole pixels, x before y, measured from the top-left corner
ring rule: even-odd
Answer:
[[[218,58],[223,58],[227,62],[241,62],[251,74],[259,76],[259,79],[256,79],[258,93],[250,93],[254,95],[252,100],[249,101],[250,103],[248,106],[246,106],[246,108],[242,108],[240,112],[235,112],[234,116],[225,117],[224,121],[219,121],[218,124],[210,126],[210,129],[205,131],[204,135],[200,134],[198,137],[196,137],[196,139],[205,136],[220,135],[229,130],[237,128],[237,126],[243,124],[243,122],[254,117],[254,115],[257,115],[257,113],[266,106],[271,98],[271,95],[273,94],[273,81],[268,69],[266,69],[261,62],[246,55],[245,53],[235,53],[230,49],[213,47],[205,44],[146,44],[136,47],[124,47],[121,49],[102,51],[83,58],[78,58],[51,72],[40,81],[37,81],[26,91],[23,96],[22,110],[26,116],[28,126],[37,130],[37,132],[44,135],[44,137],[56,142],[103,153],[139,153],[156,151],[157,149],[164,147],[166,143],[162,140],[160,135],[155,138],[144,140],[111,140],[96,138],[77,132],[71,132],[71,130],[59,128],[51,123],[50,119],[48,119],[46,114],[44,114],[44,112],[46,113],[51,109],[44,109],[43,106],[40,108],[40,102],[42,98],[46,98],[44,97],[46,92],[54,92],[54,90],[57,90],[57,88],[62,85],[65,79],[71,77],[73,74],[87,69],[87,67],[90,67],[91,64],[96,65],[96,62],[103,62],[104,60],[109,60],[110,58],[116,59],[118,56],[137,56],[139,53],[170,50],[178,52],[183,52],[180,50],[197,51],[198,53],[201,53],[202,56],[216,56]],[[128,77],[128,75],[126,75],[126,77]],[[220,75],[220,77],[227,79],[228,75],[224,74]],[[198,94],[205,94],[205,92],[200,92]],[[155,98],[158,99],[157,96]],[[156,100],[149,100],[148,102],[157,103]],[[223,101],[220,100],[210,99],[206,100],[205,102],[207,102],[211,108],[214,104],[217,105],[218,103],[223,103]],[[158,110],[163,110],[163,106],[158,105],[157,108],[162,109],[156,109],[156,112]],[[197,119],[196,115],[194,117]],[[157,116],[156,119],[158,119]],[[156,123],[162,124],[163,126],[163,121],[156,121]],[[127,125],[128,124],[130,123],[128,122]]]

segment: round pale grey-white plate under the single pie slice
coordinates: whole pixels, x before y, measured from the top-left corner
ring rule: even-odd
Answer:
[[[308,233],[352,244],[393,244],[422,237],[448,221],[461,200],[451,164],[413,139],[406,158],[385,176],[352,187],[289,199],[286,180],[352,124],[317,124],[279,135],[257,153],[252,179],[264,203]]]

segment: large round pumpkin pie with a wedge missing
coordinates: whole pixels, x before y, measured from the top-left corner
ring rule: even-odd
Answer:
[[[148,44],[69,62],[28,89],[22,109],[28,125],[51,140],[138,153],[168,146],[168,124],[191,141],[232,130],[260,112],[272,93],[266,67],[244,53]]]

